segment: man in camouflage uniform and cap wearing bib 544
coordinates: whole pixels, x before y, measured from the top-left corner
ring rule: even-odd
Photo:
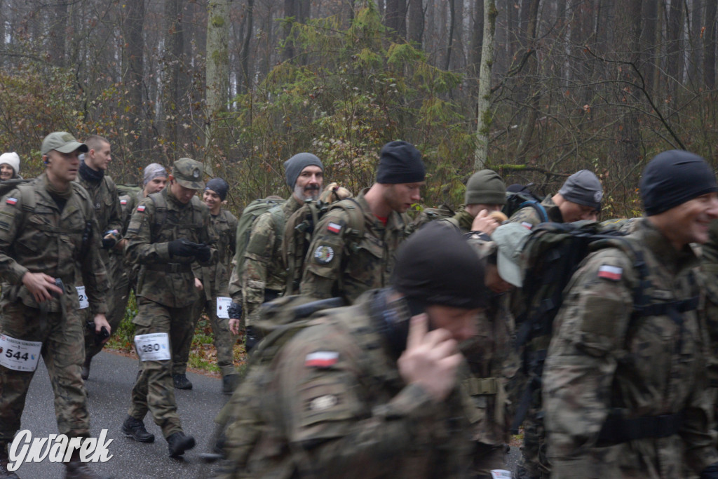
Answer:
[[[108,280],[100,256],[101,236],[90,195],[73,182],[80,152],[88,147],[58,131],[42,141],[45,173],[6,195],[0,205],[0,275],[3,279],[0,346],[8,338],[37,342],[55,391],[60,434],[89,437],[87,394],[80,368],[85,358],[77,284],[82,279],[96,331],[111,330],[105,318]],[[57,287],[57,280],[63,288]],[[35,356],[37,358],[37,356]],[[27,363],[18,366],[18,363]],[[0,478],[16,478],[6,469],[7,446],[20,428],[27,389],[34,375],[27,350],[15,363],[0,361]],[[11,361],[11,358],[10,358]],[[76,450],[66,478],[96,478]]]

